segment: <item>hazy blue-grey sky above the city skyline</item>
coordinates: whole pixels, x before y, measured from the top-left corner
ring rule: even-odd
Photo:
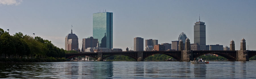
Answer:
[[[0,0],[0,28],[13,35],[39,36],[65,49],[71,32],[79,38],[92,36],[92,14],[113,13],[113,48],[131,49],[133,38],[177,41],[184,32],[194,43],[196,20],[205,22],[206,44],[240,49],[244,38],[256,50],[256,0]],[[247,48],[248,48],[247,47]]]

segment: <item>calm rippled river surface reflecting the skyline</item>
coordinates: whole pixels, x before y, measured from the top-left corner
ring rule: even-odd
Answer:
[[[0,63],[0,78],[256,78],[256,61]]]

